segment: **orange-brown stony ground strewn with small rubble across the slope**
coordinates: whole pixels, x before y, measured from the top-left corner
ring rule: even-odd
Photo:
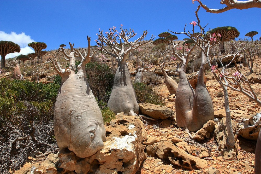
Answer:
[[[249,69],[242,67],[241,72],[248,78],[255,79],[252,88],[261,98],[261,59],[257,59],[254,63],[254,71],[256,73],[250,74]],[[130,72],[134,71],[134,66],[129,63]],[[153,68],[151,69],[153,71]],[[235,67],[230,67],[229,72],[233,74],[236,71]],[[211,72],[206,73],[207,83],[206,87],[212,97],[215,117],[225,117],[224,111],[224,97],[220,96],[223,90],[221,89],[218,82],[214,79]],[[161,77],[162,78],[162,77]],[[47,81],[47,78],[41,79],[41,81]],[[163,78],[162,78],[163,82]],[[164,83],[154,85],[153,88],[158,92],[158,95],[165,99],[166,106],[174,111],[175,115],[175,96],[170,96],[168,89]],[[230,100],[230,111],[232,119],[240,122],[240,119],[246,119],[249,116],[259,113],[261,108],[258,107],[256,103],[249,100],[246,96],[240,92],[228,89],[229,100]],[[217,142],[214,138],[214,132],[211,133],[210,138],[203,141],[193,141],[189,138],[186,131],[171,126],[159,126],[162,120],[151,121],[144,119],[144,126],[147,133],[147,138],[143,140],[144,148],[148,147],[148,144],[156,147],[161,141],[176,142],[176,146],[193,156],[200,157],[206,160],[207,168],[189,170],[184,169],[179,166],[173,166],[169,160],[160,159],[157,155],[147,155],[147,158],[143,162],[137,173],[149,174],[149,173],[175,173],[175,174],[185,174],[185,173],[206,173],[209,167],[214,167],[218,169],[219,173],[224,174],[238,174],[239,172],[243,174],[254,173],[254,154],[255,154],[255,144],[256,141],[247,140],[242,137],[238,137],[238,153],[235,160],[224,160],[222,158],[221,152],[218,150]],[[193,135],[193,133],[192,133]],[[147,144],[146,144],[147,143]],[[152,157],[153,156],[153,157]],[[32,157],[28,158],[30,163],[36,163],[45,158],[35,159]],[[55,161],[55,160],[54,160]],[[29,163],[29,164],[30,164]],[[29,165],[27,164],[27,165]]]

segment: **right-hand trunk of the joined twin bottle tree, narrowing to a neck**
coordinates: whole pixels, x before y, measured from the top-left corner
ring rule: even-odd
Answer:
[[[193,100],[192,117],[186,119],[186,127],[192,132],[201,129],[207,121],[214,119],[212,99],[204,83],[205,60],[206,56],[202,52],[201,66]]]

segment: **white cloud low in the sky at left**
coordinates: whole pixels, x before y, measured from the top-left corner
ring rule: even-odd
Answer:
[[[10,57],[19,56],[20,54],[27,55],[29,53],[34,53],[34,50],[31,47],[28,47],[28,43],[35,42],[31,39],[31,36],[26,35],[24,32],[20,34],[16,34],[15,32],[11,32],[10,34],[5,33],[4,31],[0,31],[0,40],[12,41],[18,44],[21,48],[20,53],[9,53],[5,56],[5,59]]]

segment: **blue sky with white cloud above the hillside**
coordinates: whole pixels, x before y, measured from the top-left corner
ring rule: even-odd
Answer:
[[[223,8],[218,0],[201,0],[209,8]],[[144,30],[155,35],[168,30],[182,32],[191,30],[189,22],[195,21],[194,11],[199,5],[191,0],[0,0],[0,40],[10,40],[20,45],[20,53],[8,54],[6,58],[33,52],[30,42],[44,42],[45,50],[58,49],[60,44],[87,47],[87,35],[91,45],[97,39],[99,28],[104,31],[112,26],[133,28],[139,36]],[[240,38],[250,31],[261,35],[260,8],[232,9],[221,14],[206,13],[201,8],[201,25],[207,29],[232,26],[240,32]],[[149,39],[149,36],[147,36]],[[185,35],[177,35],[182,40]]]

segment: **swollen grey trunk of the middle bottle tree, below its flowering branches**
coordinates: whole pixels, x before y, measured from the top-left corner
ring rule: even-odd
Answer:
[[[125,59],[118,62],[118,68],[107,106],[114,113],[124,112],[126,115],[139,113],[139,105]]]

